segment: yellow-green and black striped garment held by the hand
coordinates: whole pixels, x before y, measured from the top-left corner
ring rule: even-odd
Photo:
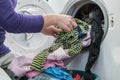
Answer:
[[[79,19],[75,20],[82,33],[87,34],[88,24]],[[82,50],[82,38],[79,38],[79,32],[77,28],[73,29],[70,32],[65,32],[63,30],[62,32],[56,33],[56,35],[58,38],[55,40],[54,45],[43,50],[34,58],[31,69],[42,72],[44,70],[44,64],[47,60],[47,56],[61,46],[63,49],[68,49],[68,55],[71,57],[78,55]]]

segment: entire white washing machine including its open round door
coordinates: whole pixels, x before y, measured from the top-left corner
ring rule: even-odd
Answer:
[[[101,80],[120,80],[120,1],[119,0],[19,0],[16,11],[22,14],[36,15],[47,13],[63,13],[81,19],[86,9],[99,7],[103,14],[104,35],[101,50],[92,71],[98,74]],[[48,5],[49,4],[49,5]],[[57,7],[56,7],[57,6]],[[53,37],[36,34],[10,34],[7,33],[6,45],[14,51],[25,54],[39,52],[51,45]],[[42,43],[41,43],[42,42]],[[40,45],[38,45],[40,44]],[[69,69],[84,70],[88,59],[88,51],[76,56]]]

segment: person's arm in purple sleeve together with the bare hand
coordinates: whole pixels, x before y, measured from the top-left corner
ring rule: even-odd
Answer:
[[[6,31],[12,33],[35,33],[42,30],[42,33],[53,36],[55,32],[61,31],[55,26],[59,26],[65,31],[71,31],[77,26],[73,17],[69,15],[48,14],[33,16],[17,14],[10,0],[0,0],[0,25]]]

